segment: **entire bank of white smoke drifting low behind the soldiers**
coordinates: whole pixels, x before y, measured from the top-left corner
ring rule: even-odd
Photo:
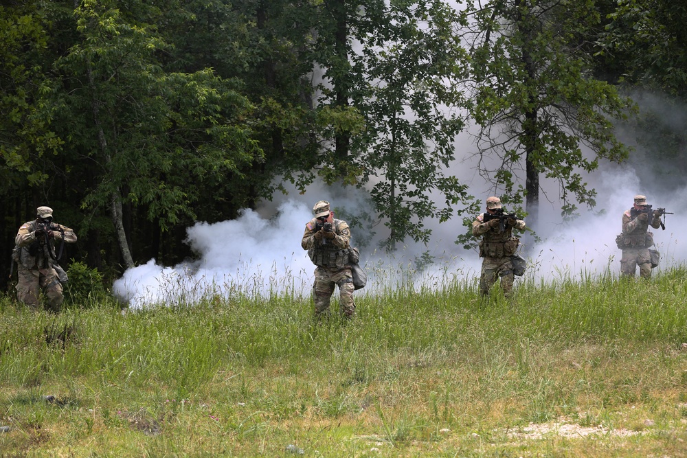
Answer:
[[[530,264],[526,275],[545,282],[595,277],[608,271],[618,275],[620,250],[615,238],[620,233],[622,213],[631,207],[635,194],[646,194],[654,208],[666,207],[675,213],[666,217],[665,231],[652,229],[662,253],[662,264],[655,272],[684,262],[687,243],[679,237],[679,228],[685,222],[680,216],[685,205],[679,198],[684,190],[673,196],[652,196],[640,188],[633,170],[619,166],[609,166],[597,176],[598,208],[594,211],[567,223],[560,220],[554,204],[551,211],[540,213],[551,235],[526,247]],[[294,194],[297,197],[291,197]],[[258,211],[244,210],[236,220],[199,222],[188,229],[186,240],[197,253],[196,260],[174,267],[150,260],[126,271],[115,282],[113,291],[133,308],[193,304],[212,295],[307,297],[314,266],[300,247],[300,239],[305,223],[312,218],[312,206],[322,198],[348,214],[365,211],[362,192],[316,190],[305,195],[292,193],[286,200],[267,203]],[[361,250],[361,265],[370,275],[368,287],[361,293],[377,294],[409,285],[440,289],[451,282],[476,285],[481,260],[476,251],[466,251],[454,243],[455,237],[467,229],[457,219],[432,222],[431,226],[433,237],[427,247],[409,243],[390,254],[374,248],[376,241],[384,237],[378,233],[370,246]],[[357,240],[369,238],[370,231],[379,231],[380,227],[353,228],[352,244],[357,246]],[[418,255],[425,251],[433,264],[418,266]]]

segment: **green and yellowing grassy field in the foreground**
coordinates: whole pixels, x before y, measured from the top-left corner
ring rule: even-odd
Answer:
[[[687,270],[58,315],[0,298],[0,457],[687,456]]]

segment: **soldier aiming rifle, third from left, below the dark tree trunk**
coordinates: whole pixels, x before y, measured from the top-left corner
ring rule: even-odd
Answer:
[[[525,229],[525,222],[517,218],[494,218],[484,222],[485,216],[503,213],[501,200],[498,197],[486,199],[486,213],[477,216],[473,221],[473,236],[480,237],[480,257],[482,275],[480,276],[480,293],[488,295],[497,277],[501,277],[501,288],[506,297],[513,290],[513,263],[510,256],[515,254],[520,239],[513,237],[513,229]],[[487,218],[488,219],[488,218]],[[502,230],[503,229],[503,230]]]

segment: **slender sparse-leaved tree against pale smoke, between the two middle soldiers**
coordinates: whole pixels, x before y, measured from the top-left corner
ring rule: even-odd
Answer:
[[[387,248],[394,249],[407,237],[429,242],[425,219],[447,221],[453,205],[469,197],[466,185],[442,170],[464,126],[457,88],[465,53],[454,34],[458,16],[441,1],[392,2],[385,17],[385,29],[365,37],[352,56],[367,82],[352,105],[365,119],[357,136],[359,185],[372,185],[377,216],[390,229]]]

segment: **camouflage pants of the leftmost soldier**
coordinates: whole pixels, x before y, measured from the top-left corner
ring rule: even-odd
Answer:
[[[34,310],[41,310],[41,289],[47,298],[47,305],[53,312],[59,312],[64,296],[62,284],[54,268],[25,268],[19,265],[17,271],[16,298]]]

